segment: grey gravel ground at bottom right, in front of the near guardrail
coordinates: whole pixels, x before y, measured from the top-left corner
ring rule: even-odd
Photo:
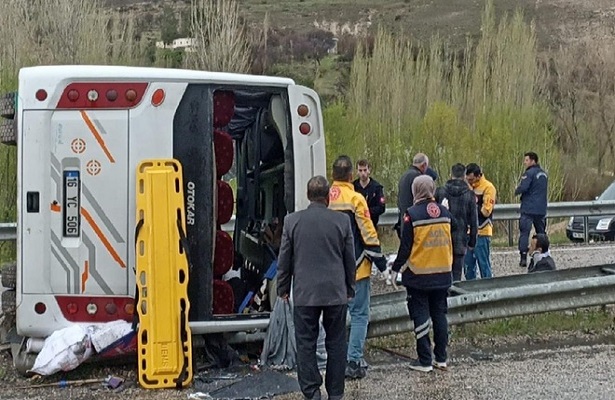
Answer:
[[[574,344],[576,343],[576,344]],[[454,342],[449,370],[420,373],[399,359],[347,381],[347,399],[615,399],[615,336],[553,334],[500,338],[483,346]],[[413,356],[410,350],[408,354]],[[324,387],[323,387],[324,394]],[[300,400],[299,394],[279,397]]]

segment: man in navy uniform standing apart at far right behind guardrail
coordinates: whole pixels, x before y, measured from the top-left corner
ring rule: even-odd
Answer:
[[[547,216],[547,188],[549,177],[538,164],[538,155],[525,153],[525,173],[515,190],[521,195],[521,216],[519,217],[519,266],[527,266],[529,236],[534,225],[536,233],[545,233]]]

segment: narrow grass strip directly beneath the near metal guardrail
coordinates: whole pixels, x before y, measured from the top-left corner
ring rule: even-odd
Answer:
[[[511,317],[486,322],[468,323],[450,327],[450,340],[480,339],[494,337],[539,336],[555,332],[579,332],[594,334],[615,332],[615,308],[613,306],[584,308],[573,311],[558,311],[544,314]],[[403,348],[414,343],[414,335],[405,332],[398,335],[368,339],[373,347]]]

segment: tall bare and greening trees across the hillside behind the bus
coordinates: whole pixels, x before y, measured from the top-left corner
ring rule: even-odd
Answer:
[[[338,38],[336,55],[329,54],[334,41],[327,32],[273,28],[267,17],[248,27],[235,0],[190,0],[188,10],[169,17],[162,32],[166,40],[189,32],[195,51],[169,59],[131,12],[97,0],[4,0],[0,35],[10,39],[0,47],[0,91],[16,89],[19,68],[41,64],[281,74],[317,90],[317,77],[332,68],[343,78],[324,103],[328,159],[367,157],[391,201],[418,151],[444,177],[454,162],[480,163],[500,202],[514,200],[528,150],[544,160],[552,200],[591,198],[613,179],[613,44],[539,54],[533,25],[521,12],[497,19],[491,0],[482,36],[464,49],[437,36],[411,43],[381,29],[367,38]],[[15,149],[0,146],[3,221],[16,217],[15,164]]]

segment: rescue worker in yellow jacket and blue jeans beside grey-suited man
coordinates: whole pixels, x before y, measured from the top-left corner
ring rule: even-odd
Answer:
[[[348,215],[354,236],[357,272],[355,297],[348,303],[350,335],[346,377],[360,379],[367,375],[368,366],[363,358],[363,347],[369,323],[372,262],[381,272],[384,272],[387,266],[386,258],[380,250],[380,240],[378,240],[376,228],[370,218],[365,197],[354,190],[352,171],[352,160],[348,156],[340,156],[333,163],[333,184],[329,191],[329,208]]]

